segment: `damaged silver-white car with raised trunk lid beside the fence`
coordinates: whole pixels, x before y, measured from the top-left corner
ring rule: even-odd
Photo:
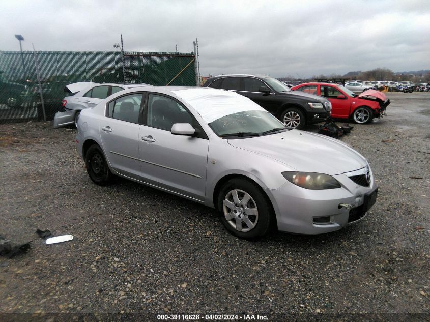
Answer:
[[[54,128],[77,124],[81,110],[96,106],[106,97],[133,87],[151,86],[149,84],[99,84],[92,82],[78,82],[66,85],[65,92],[72,93],[66,96],[62,102],[64,112],[56,112],[54,116]]]

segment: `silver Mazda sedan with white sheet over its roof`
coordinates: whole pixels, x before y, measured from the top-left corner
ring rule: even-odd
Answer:
[[[376,202],[369,164],[349,145],[286,129],[234,92],[138,87],[82,110],[77,125],[93,182],[118,175],[216,208],[242,238],[334,231]]]

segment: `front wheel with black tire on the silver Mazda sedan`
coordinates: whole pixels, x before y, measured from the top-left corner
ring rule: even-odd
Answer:
[[[225,228],[240,238],[264,236],[275,223],[269,198],[245,179],[228,180],[219,191],[217,206]]]

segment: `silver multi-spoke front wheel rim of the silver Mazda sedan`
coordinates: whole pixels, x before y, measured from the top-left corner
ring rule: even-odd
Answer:
[[[247,232],[259,220],[259,211],[251,195],[243,190],[228,191],[222,202],[224,217],[234,229]]]

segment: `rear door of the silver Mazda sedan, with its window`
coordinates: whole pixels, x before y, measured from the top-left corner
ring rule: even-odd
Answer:
[[[138,138],[143,95],[133,93],[109,102],[99,125],[103,150],[111,167],[134,179],[140,179]]]

